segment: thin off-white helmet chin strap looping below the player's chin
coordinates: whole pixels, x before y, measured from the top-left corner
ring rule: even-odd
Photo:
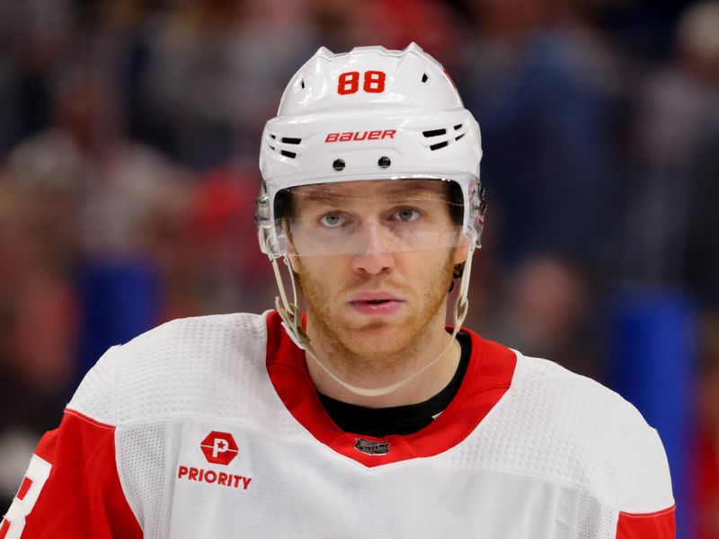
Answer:
[[[282,318],[282,325],[284,326],[285,330],[288,332],[288,335],[290,339],[300,348],[304,349],[306,352],[306,355],[312,358],[315,363],[324,370],[324,372],[327,374],[327,376],[330,376],[330,378],[333,379],[334,382],[337,384],[340,384],[343,388],[350,391],[351,393],[355,393],[358,395],[361,395],[363,397],[380,397],[389,393],[394,393],[398,389],[404,387],[406,384],[409,384],[414,378],[417,376],[420,376],[424,371],[435,365],[440,358],[442,358],[449,349],[449,346],[452,344],[452,342],[455,340],[455,337],[457,337],[457,331],[459,331],[459,328],[461,327],[462,323],[465,321],[465,317],[468,310],[468,301],[467,301],[467,292],[469,291],[469,275],[472,270],[472,255],[475,252],[475,243],[470,243],[469,247],[467,249],[467,257],[465,262],[465,269],[462,272],[462,278],[460,279],[459,284],[459,293],[457,295],[457,300],[455,302],[455,308],[454,308],[454,328],[452,330],[451,336],[449,336],[447,344],[444,346],[444,348],[439,352],[439,354],[433,358],[429,363],[426,365],[420,367],[416,371],[414,371],[411,375],[406,376],[404,379],[400,380],[399,382],[395,382],[395,384],[386,385],[385,387],[377,387],[377,388],[371,388],[371,387],[359,387],[357,385],[352,385],[344,380],[342,380],[339,376],[335,375],[332,370],[324,365],[324,362],[317,357],[317,354],[315,353],[315,349],[312,347],[310,343],[310,339],[306,334],[306,331],[302,327],[302,315],[299,311],[299,307],[297,306],[297,285],[295,283],[295,275],[294,272],[289,265],[289,261],[287,257],[283,257],[283,261],[285,262],[285,265],[288,267],[289,271],[289,279],[292,283],[292,295],[293,295],[293,301],[292,303],[288,302],[287,293],[285,291],[284,284],[282,282],[282,276],[280,274],[280,268],[277,265],[277,258],[272,258],[272,269],[275,273],[275,279],[277,280],[277,286],[280,290],[280,296],[275,298],[275,305],[277,307],[277,311],[280,314],[280,317]]]

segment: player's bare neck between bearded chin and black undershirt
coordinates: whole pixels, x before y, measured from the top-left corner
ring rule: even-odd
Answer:
[[[352,392],[350,389],[338,384],[316,364],[312,358],[307,358],[307,368],[317,390],[328,397],[338,401],[358,404],[368,408],[384,408],[389,406],[402,406],[423,402],[439,393],[454,376],[459,364],[461,347],[457,340],[448,343],[450,336],[445,331],[444,311],[431,321],[427,331],[419,336],[420,342],[414,342],[411,349],[406,351],[408,357],[402,361],[393,361],[393,365],[401,367],[387,368],[385,364],[377,364],[377,368],[353,369],[351,362],[338,358],[337,347],[333,347],[326,336],[318,331],[312,324],[311,315],[307,321],[307,332],[312,347],[319,360],[325,367],[329,367],[335,376],[342,381],[362,388],[381,388],[395,384],[412,376],[414,373],[437,361],[427,370],[415,376],[407,384],[392,393],[380,396],[364,396]],[[449,345],[448,345],[449,344]],[[441,357],[438,359],[438,356]],[[381,361],[381,360],[380,360]]]

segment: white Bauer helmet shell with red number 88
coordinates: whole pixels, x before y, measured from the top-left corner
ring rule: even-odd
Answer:
[[[337,181],[457,181],[464,232],[478,242],[481,159],[476,120],[444,68],[418,45],[319,49],[292,77],[262,133],[256,215],[262,252],[286,253],[275,226],[280,190]]]

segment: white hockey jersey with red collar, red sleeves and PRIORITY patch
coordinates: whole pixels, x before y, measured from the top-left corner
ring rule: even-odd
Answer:
[[[468,331],[453,402],[339,429],[276,313],[110,349],[40,441],[0,539],[674,537],[661,441],[605,387]]]

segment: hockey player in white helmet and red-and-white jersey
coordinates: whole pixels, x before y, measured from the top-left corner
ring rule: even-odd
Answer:
[[[108,350],[0,538],[674,537],[631,404],[461,328],[481,155],[416,45],[320,49],[262,135],[277,309]]]

